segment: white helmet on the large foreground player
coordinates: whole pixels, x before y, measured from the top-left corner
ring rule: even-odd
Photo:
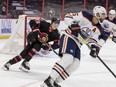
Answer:
[[[102,14],[104,14],[107,17],[106,9],[103,6],[95,6],[93,8],[93,15],[96,16],[98,19],[102,17]]]

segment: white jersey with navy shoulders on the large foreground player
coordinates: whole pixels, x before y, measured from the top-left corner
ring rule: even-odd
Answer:
[[[68,13],[65,15],[65,22],[68,26],[71,26],[74,23],[78,23],[80,26],[80,31],[83,31],[83,34],[87,34],[86,41],[89,46],[92,44],[97,44],[99,41],[99,35],[104,35],[104,30],[100,24],[94,25],[92,23],[93,15],[86,11],[79,13]],[[82,35],[81,35],[82,36]]]

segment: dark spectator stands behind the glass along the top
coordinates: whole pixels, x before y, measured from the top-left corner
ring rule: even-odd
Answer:
[[[108,0],[107,10],[115,9],[115,4],[115,0]],[[18,18],[21,14],[62,18],[67,12],[88,10],[91,13],[95,5],[106,7],[106,0],[64,0],[64,9],[63,0],[44,0],[44,7],[43,0],[0,0],[0,18]]]

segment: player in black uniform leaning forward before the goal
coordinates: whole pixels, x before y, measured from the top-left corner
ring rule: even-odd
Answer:
[[[30,70],[28,62],[32,59],[36,52],[38,52],[41,48],[49,50],[50,46],[46,45],[45,43],[48,44],[48,42],[54,41],[51,47],[53,49],[57,49],[59,47],[58,40],[60,38],[60,33],[57,29],[59,23],[60,20],[57,18],[53,18],[51,20],[51,24],[45,20],[31,20],[29,25],[32,29],[32,32],[30,32],[27,36],[28,44],[19,55],[13,57],[13,59],[10,59],[3,66],[3,69],[9,70],[11,65],[16,64],[24,59],[20,69],[28,71]]]

